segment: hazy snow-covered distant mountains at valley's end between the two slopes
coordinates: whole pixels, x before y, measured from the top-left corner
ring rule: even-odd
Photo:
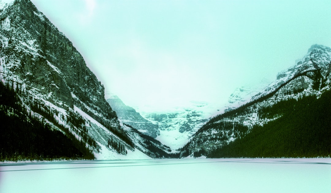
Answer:
[[[107,94],[106,98],[122,123],[159,140],[173,150],[187,143],[215,111],[206,102],[192,101],[191,106],[176,108],[168,113],[137,113],[116,95]]]

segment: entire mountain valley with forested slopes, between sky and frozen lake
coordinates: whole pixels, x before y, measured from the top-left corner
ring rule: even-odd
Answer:
[[[0,0],[0,43],[0,161],[331,155],[327,46],[312,45],[267,86],[236,88],[224,106],[144,112],[105,97],[30,0]]]

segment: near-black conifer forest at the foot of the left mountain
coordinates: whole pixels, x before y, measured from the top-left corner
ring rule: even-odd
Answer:
[[[31,115],[22,105],[18,92],[13,85],[0,82],[0,161],[95,159],[92,150],[85,146],[85,141],[95,145],[93,140],[78,141],[68,128],[59,124],[67,136],[52,130],[48,123]],[[57,124],[52,113],[44,112],[37,105],[31,108]]]

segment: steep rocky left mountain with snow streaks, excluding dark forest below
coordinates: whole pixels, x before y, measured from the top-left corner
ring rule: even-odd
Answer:
[[[24,109],[74,136],[97,159],[148,158],[134,148],[103,85],[64,34],[29,0],[0,5],[0,80],[15,89]]]

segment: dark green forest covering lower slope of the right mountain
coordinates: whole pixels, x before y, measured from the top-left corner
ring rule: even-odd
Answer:
[[[259,110],[262,118],[280,118],[254,126],[237,139],[207,156],[222,157],[329,157],[331,155],[331,91],[320,98],[280,101]]]

